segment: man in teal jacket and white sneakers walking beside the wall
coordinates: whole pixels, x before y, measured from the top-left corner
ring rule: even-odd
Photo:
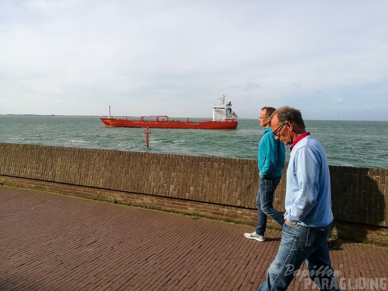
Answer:
[[[286,160],[285,147],[280,141],[275,140],[272,133],[269,117],[275,111],[273,107],[263,107],[260,112],[259,122],[264,127],[264,135],[259,143],[259,192],[256,197],[258,208],[258,223],[252,233],[244,233],[247,239],[264,242],[264,233],[267,226],[267,216],[283,226],[284,216],[273,208],[273,195],[282,177],[284,162]]]

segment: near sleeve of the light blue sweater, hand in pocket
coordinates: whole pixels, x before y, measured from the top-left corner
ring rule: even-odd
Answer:
[[[297,187],[295,199],[287,215],[291,224],[303,221],[316,204],[318,195],[319,156],[309,147],[302,147],[295,153]]]

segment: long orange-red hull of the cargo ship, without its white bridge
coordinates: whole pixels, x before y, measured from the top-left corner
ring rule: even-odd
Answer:
[[[149,128],[197,128],[197,129],[235,129],[238,121],[180,121],[180,120],[128,120],[119,118],[100,118],[107,127],[149,127]]]

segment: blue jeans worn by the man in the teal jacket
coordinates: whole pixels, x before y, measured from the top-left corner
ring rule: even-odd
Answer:
[[[271,217],[280,225],[284,223],[284,215],[273,208],[273,195],[277,185],[280,183],[280,177],[272,179],[260,179],[259,192],[256,197],[256,204],[258,208],[258,218],[256,233],[264,236],[267,226],[267,216]]]

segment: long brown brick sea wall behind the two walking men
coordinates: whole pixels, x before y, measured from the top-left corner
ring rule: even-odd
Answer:
[[[333,237],[387,245],[388,170],[330,166],[330,171]],[[254,160],[0,143],[0,182],[257,223]],[[284,196],[285,176],[274,199],[282,212]],[[268,226],[279,227],[271,219]]]

